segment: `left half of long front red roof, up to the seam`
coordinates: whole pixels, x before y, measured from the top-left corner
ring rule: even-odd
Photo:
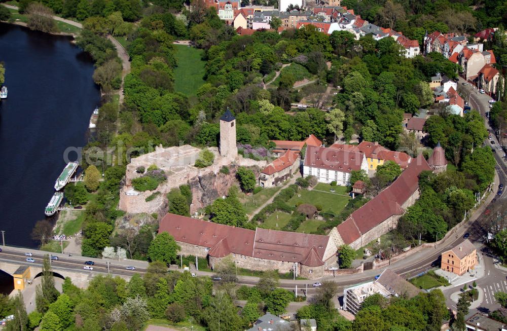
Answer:
[[[159,233],[164,231],[173,236],[176,241],[209,248],[227,238],[227,245],[231,252],[248,256],[251,256],[255,238],[255,231],[252,230],[174,214],[166,214],[160,221]]]

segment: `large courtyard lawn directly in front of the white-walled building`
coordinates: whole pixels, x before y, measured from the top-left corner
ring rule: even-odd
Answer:
[[[329,191],[331,189],[335,190],[335,193],[331,193]],[[295,206],[298,201],[312,205],[320,204],[323,211],[332,210],[336,214],[339,214],[350,200],[349,196],[344,196],[346,190],[346,187],[332,187],[328,184],[318,183],[312,191],[299,190],[287,203],[293,206]]]

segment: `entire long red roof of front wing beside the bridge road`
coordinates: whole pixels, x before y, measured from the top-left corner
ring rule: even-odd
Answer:
[[[324,256],[328,236],[260,228],[252,231],[175,214],[166,214],[160,221],[159,233],[164,231],[176,241],[210,247],[208,254],[214,257],[236,253],[265,260],[321,263],[319,265],[330,257]]]

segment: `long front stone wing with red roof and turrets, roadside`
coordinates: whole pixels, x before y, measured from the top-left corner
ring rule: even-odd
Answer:
[[[315,279],[336,263],[336,246],[328,236],[260,228],[253,231],[175,214],[162,218],[161,232],[174,237],[181,254],[208,258],[212,268],[231,255],[239,268],[286,273],[297,267],[298,275]]]

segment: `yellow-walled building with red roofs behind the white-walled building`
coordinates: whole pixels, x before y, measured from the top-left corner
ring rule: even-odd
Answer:
[[[411,157],[403,152],[393,152],[380,145],[378,142],[363,140],[358,145],[346,145],[334,143],[330,146],[332,149],[361,152],[365,154],[368,162],[368,170],[376,170],[379,165],[386,161],[393,161],[400,165],[402,169],[407,168]]]

